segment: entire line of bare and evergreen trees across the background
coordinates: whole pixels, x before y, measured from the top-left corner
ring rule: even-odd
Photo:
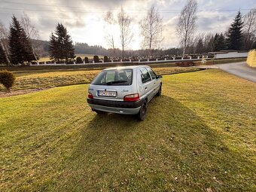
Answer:
[[[75,58],[76,53],[99,53],[110,56],[156,56],[163,54],[185,55],[188,53],[202,54],[219,50],[250,50],[256,48],[256,9],[242,16],[240,11],[226,32],[197,33],[197,1],[187,0],[181,10],[176,26],[176,34],[180,47],[176,49],[160,49],[163,41],[163,17],[152,6],[145,17],[139,22],[142,36],[142,50],[129,50],[133,40],[133,20],[120,8],[117,14],[108,11],[104,15],[105,41],[108,50],[101,46],[89,46],[86,43],[73,43],[68,30],[62,23],[57,23],[56,29],[50,34],[47,46],[40,44],[38,30],[26,14],[19,19],[12,17],[8,29],[0,23],[0,62],[23,64],[37,60],[42,50],[47,49],[50,59]],[[119,30],[119,41],[114,38]],[[117,41],[117,42],[116,42]],[[120,48],[117,48],[120,47]]]

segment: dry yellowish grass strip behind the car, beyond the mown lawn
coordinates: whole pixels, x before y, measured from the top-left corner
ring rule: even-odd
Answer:
[[[59,87],[72,84],[88,84],[101,69],[42,69],[13,71],[17,76],[13,90]],[[194,72],[199,69],[193,67],[157,67],[155,72],[161,75],[180,72]],[[4,87],[0,85],[0,90]]]

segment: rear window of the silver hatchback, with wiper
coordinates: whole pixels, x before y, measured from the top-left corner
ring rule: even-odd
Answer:
[[[131,85],[133,69],[111,69],[99,73],[92,84],[98,85]]]

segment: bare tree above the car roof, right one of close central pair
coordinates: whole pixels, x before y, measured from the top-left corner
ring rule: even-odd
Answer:
[[[120,28],[120,41],[122,47],[122,56],[124,53],[124,49],[130,44],[133,39],[133,32],[131,29],[131,18],[127,15],[123,8],[121,8],[118,14],[118,25]]]

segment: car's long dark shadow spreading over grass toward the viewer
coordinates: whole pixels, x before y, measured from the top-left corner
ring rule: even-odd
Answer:
[[[81,131],[57,190],[250,191],[254,166],[181,102],[154,98],[145,121],[95,115]]]

